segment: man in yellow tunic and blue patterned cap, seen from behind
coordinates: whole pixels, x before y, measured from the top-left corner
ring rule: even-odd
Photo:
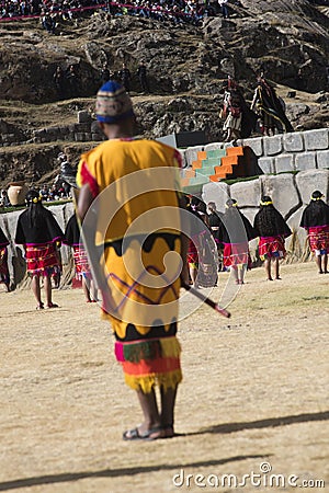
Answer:
[[[115,81],[98,92],[95,113],[107,140],[81,157],[78,215],[103,313],[115,334],[115,355],[144,413],[143,424],[123,438],[171,437],[182,380],[178,299],[188,273],[180,154],[161,142],[133,138],[132,101]]]

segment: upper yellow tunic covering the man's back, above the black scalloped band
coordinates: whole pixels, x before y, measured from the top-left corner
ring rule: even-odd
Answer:
[[[159,231],[180,231],[179,160],[178,151],[161,142],[124,139],[107,140],[81,157],[78,185],[89,183],[98,196],[98,245],[157,226]],[[141,215],[143,221],[136,221]]]

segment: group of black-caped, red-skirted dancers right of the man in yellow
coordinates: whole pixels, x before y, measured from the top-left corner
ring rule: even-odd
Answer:
[[[328,273],[329,206],[324,198],[321,192],[315,191],[300,220],[319,274]],[[243,284],[246,271],[251,268],[248,243],[256,238],[259,238],[258,255],[263,261],[266,279],[281,279],[280,261],[286,256],[285,239],[292,231],[270,196],[262,196],[253,225],[234,198],[226,202],[225,214],[216,210],[215,203],[206,206],[196,197],[188,200],[188,208],[198,218],[198,221],[191,221],[188,251],[190,282],[194,287],[216,286],[217,271],[227,270],[236,284]]]

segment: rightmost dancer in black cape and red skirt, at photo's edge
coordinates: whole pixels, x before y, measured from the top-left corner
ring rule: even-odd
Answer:
[[[309,248],[315,254],[319,274],[328,274],[329,206],[318,190],[311,194],[310,203],[304,209],[300,226],[307,231]]]

